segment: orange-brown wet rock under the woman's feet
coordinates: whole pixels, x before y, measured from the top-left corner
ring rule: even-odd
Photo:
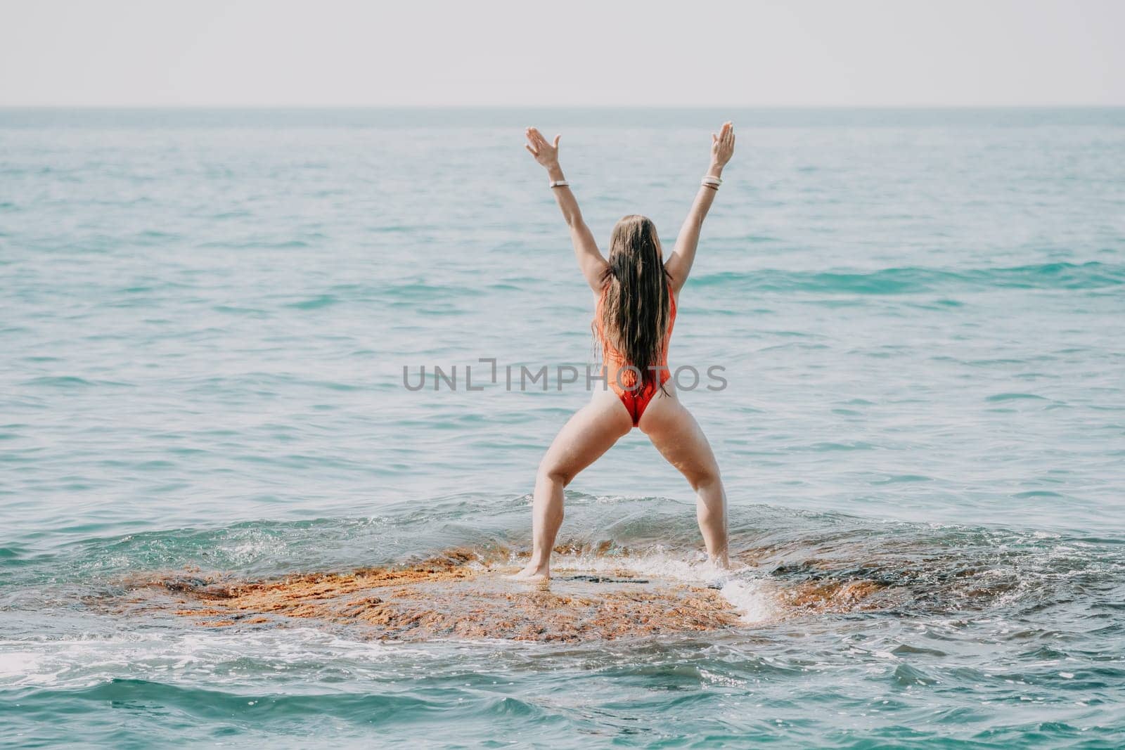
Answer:
[[[147,605],[200,626],[318,623],[396,641],[572,642],[714,631],[740,622],[719,591],[702,586],[623,570],[597,576],[559,570],[550,581],[526,584],[507,578],[515,570],[444,555],[413,567],[261,581],[194,572],[148,579],[145,588],[163,595]]]

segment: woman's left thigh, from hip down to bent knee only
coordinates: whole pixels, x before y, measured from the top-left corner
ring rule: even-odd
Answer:
[[[539,464],[539,471],[569,484],[630,430],[632,418],[618,395],[613,391],[597,392],[586,406],[574,413],[555,436]]]

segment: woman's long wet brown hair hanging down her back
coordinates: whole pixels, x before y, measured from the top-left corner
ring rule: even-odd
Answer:
[[[657,367],[664,359],[672,306],[668,279],[656,225],[637,214],[618,222],[602,274],[601,323],[609,343],[640,370],[639,388],[659,382],[659,372],[649,365]]]

